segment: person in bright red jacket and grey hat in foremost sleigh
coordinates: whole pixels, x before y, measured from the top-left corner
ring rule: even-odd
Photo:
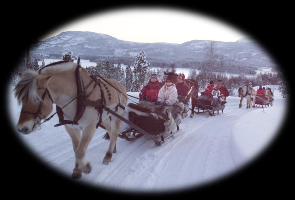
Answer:
[[[157,75],[152,74],[150,77],[150,81],[148,82],[148,85],[146,85],[140,90],[142,94],[139,94],[139,98],[143,100],[156,102],[158,100],[160,88],[161,84],[157,79]]]

